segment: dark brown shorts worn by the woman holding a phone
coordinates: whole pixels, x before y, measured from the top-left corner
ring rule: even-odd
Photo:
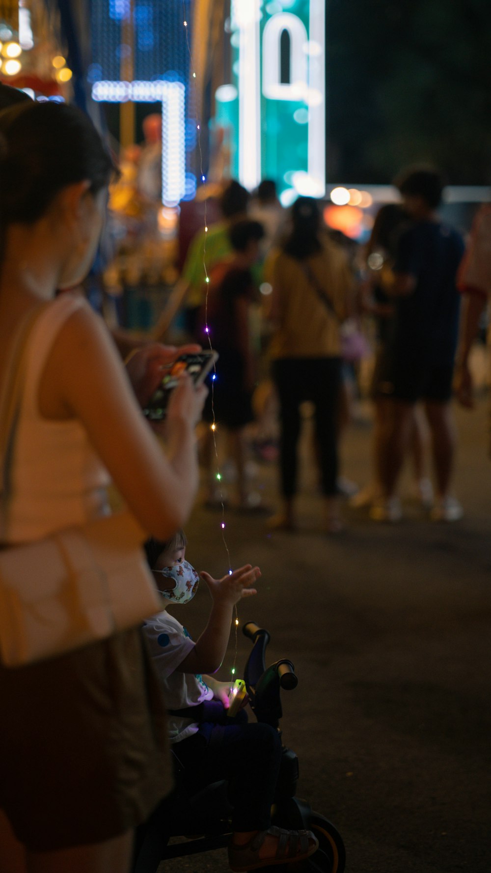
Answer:
[[[123,834],[172,785],[164,701],[140,629],[0,666],[0,808],[28,849]]]

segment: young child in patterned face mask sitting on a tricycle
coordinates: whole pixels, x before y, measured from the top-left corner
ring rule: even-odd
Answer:
[[[169,709],[173,751],[184,767],[188,787],[198,790],[216,780],[228,780],[234,830],[228,846],[231,870],[242,873],[270,863],[301,861],[316,851],[316,837],[306,830],[270,827],[282,755],[279,734],[269,725],[249,725],[243,712],[239,713],[242,718],[227,718],[230,684],[208,675],[222,664],[235,603],[256,594],[252,586],[261,571],[246,564],[219,580],[201,573],[212,607],[207,626],[194,643],[188,631],[167,612],[167,606],[190,601],[198,588],[199,576],[185,560],[186,545],[182,531],[167,542],[148,540],[146,544],[147,560],[163,595],[163,609],[147,620],[144,631]],[[222,703],[222,718],[219,715],[217,720],[225,726],[220,739],[210,743],[215,719],[200,723],[192,714],[183,718],[175,711],[212,699]]]

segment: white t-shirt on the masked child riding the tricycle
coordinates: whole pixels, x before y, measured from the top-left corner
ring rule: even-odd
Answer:
[[[213,691],[201,675],[176,670],[195,644],[186,628],[164,610],[147,619],[143,629],[159,674],[167,709],[183,709],[185,706],[201,704],[203,700],[211,700]],[[168,725],[171,743],[179,743],[198,731],[198,724],[192,718],[169,715]]]

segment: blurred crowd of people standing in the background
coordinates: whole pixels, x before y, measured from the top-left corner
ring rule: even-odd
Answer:
[[[294,529],[307,410],[325,531],[343,528],[343,497],[375,521],[398,521],[406,458],[413,498],[434,520],[460,519],[451,406],[460,299],[464,292],[456,375],[468,405],[467,359],[489,285],[489,267],[476,265],[482,258],[476,252],[488,240],[489,208],[476,220],[465,278],[464,240],[438,214],[444,189],[438,170],[408,168],[396,185],[400,203],[379,208],[365,244],[329,229],[312,198],[283,209],[271,180],[252,196],[234,180],[203,186],[200,198],[181,204],[179,278],[152,335],[177,330],[220,354],[201,452],[209,507],[228,500],[216,480],[224,430],[221,463],[236,483],[231,504],[266,513],[249,483],[250,460],[277,461],[281,501],[268,525]],[[476,283],[485,290],[476,292]],[[338,457],[360,396],[372,402],[372,481],[358,489],[340,474]]]

